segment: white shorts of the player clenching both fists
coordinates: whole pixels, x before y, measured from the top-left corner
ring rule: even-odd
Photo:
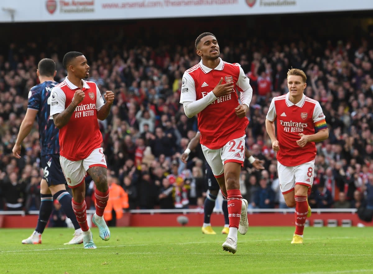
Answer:
[[[75,188],[84,181],[89,168],[93,166],[103,166],[104,168],[107,168],[102,147],[93,150],[93,152],[91,152],[91,154],[84,160],[70,161],[63,156],[60,156],[60,163],[63,175],[65,175],[65,179],[70,188]]]

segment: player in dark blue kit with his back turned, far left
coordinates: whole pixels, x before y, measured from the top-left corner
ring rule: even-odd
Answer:
[[[36,71],[40,84],[31,88],[28,94],[28,106],[25,118],[19,128],[19,133],[15,145],[13,147],[13,155],[16,158],[21,158],[21,144],[23,139],[30,133],[35,118],[39,125],[39,138],[41,149],[41,168],[43,168],[44,176],[40,183],[40,210],[38,223],[35,231],[27,239],[22,240],[22,243],[37,244],[41,243],[41,234],[49,220],[53,209],[53,199],[59,201],[66,216],[72,221],[75,233],[70,242],[65,245],[72,245],[83,242],[82,230],[76,220],[75,214],[71,205],[71,195],[66,191],[65,176],[63,176],[60,165],[60,145],[58,140],[58,128],[54,125],[53,118],[50,113],[50,94],[54,86],[58,85],[54,82],[56,76],[56,64],[53,60],[44,58],[38,64]]]

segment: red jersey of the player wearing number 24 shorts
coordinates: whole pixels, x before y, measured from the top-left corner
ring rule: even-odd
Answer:
[[[185,71],[180,103],[203,98],[212,92],[222,77],[222,84],[233,82],[234,90],[242,92],[250,88],[250,80],[239,64],[230,64],[220,59],[219,65],[211,69],[204,66],[201,61]],[[229,95],[220,96],[198,113],[201,144],[209,149],[220,149],[230,140],[244,136],[249,122],[246,117],[238,118],[235,114],[238,105],[238,95],[232,91]]]

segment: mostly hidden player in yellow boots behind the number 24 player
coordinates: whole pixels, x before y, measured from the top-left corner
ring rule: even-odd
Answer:
[[[198,131],[195,134],[195,136],[190,140],[184,153],[180,155],[180,159],[182,160],[183,163],[186,163],[186,160],[188,160],[188,156],[191,150],[194,150],[197,147],[197,145],[200,143],[200,136],[201,134]],[[251,154],[246,149],[245,149],[245,157],[249,159],[250,163],[254,166],[254,168],[258,170],[264,169],[264,166],[262,166],[264,161],[255,159],[253,156],[251,156]],[[204,221],[202,225],[202,233],[208,234],[208,235],[216,235],[216,232],[211,227],[210,217],[214,210],[215,201],[219,193],[220,187],[216,181],[216,178],[213,176],[213,173],[209,165],[207,165],[206,167],[206,175],[207,175],[208,186],[209,186],[209,195],[206,197],[204,206],[203,206]],[[228,234],[229,233],[228,201],[225,198],[223,198],[222,210],[223,210],[224,221],[225,221],[222,234]]]

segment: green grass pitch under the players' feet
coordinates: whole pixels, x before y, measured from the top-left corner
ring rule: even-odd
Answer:
[[[32,229],[0,232],[0,273],[373,273],[373,227],[306,227],[303,245],[293,227],[249,227],[234,255],[200,227],[115,227],[107,242],[94,228],[97,249],[63,245],[67,228],[47,228],[41,245],[21,244]]]

